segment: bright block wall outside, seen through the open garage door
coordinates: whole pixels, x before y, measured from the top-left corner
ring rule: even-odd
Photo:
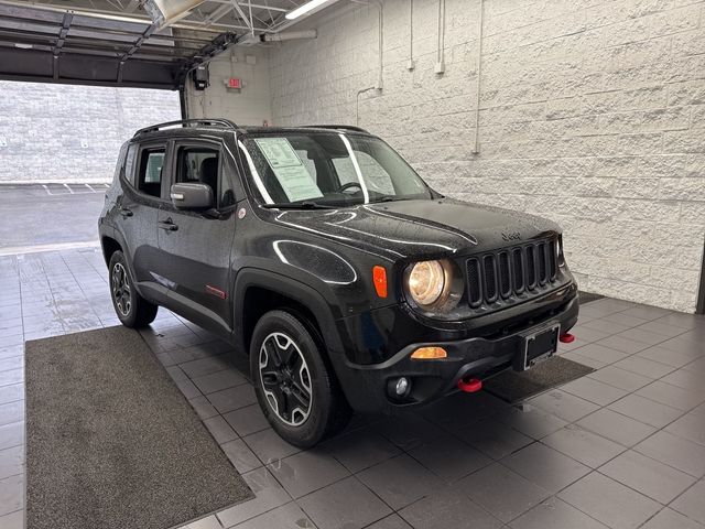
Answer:
[[[0,80],[0,183],[109,182],[137,129],[181,119],[177,91]]]

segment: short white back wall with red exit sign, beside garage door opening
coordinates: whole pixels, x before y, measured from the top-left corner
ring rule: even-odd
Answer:
[[[238,125],[271,122],[268,56],[269,50],[263,46],[241,46],[218,55],[208,65],[210,86],[196,90],[191,79],[186,83],[188,117],[229,118]],[[239,91],[226,87],[229,77],[242,80]]]

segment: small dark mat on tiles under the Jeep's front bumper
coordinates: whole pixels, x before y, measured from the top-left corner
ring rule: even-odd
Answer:
[[[527,371],[508,369],[482,381],[482,388],[509,402],[521,402],[534,395],[581,378],[595,369],[554,356]]]

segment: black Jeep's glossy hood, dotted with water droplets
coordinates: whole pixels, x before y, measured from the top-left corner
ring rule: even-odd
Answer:
[[[449,198],[280,210],[273,222],[391,260],[484,251],[560,233],[545,218]]]

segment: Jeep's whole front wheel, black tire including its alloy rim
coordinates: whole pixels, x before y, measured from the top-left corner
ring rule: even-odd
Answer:
[[[324,360],[322,341],[289,312],[268,312],[254,326],[250,371],[264,417],[295,446],[307,449],[335,435],[352,415]]]

